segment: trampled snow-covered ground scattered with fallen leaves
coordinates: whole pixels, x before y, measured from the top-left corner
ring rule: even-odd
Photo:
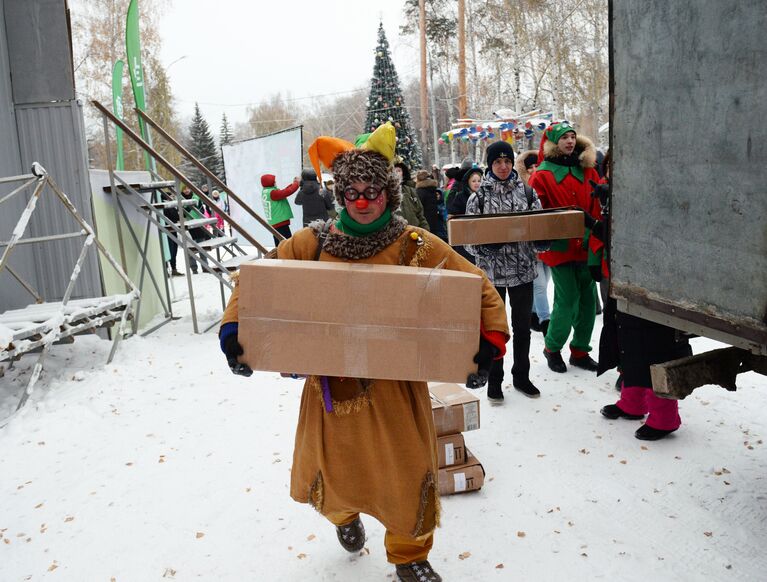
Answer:
[[[218,287],[195,281],[213,321]],[[109,347],[54,346],[27,406],[0,428],[0,581],[394,577],[372,518],[366,550],[349,556],[288,495],[300,381],[231,375],[215,331],[193,335],[188,315],[125,341],[107,366]],[[767,579],[767,378],[697,390],[682,428],[647,443],[633,436],[639,422],[599,415],[616,399],[614,373],[557,375],[542,349],[534,333],[540,399],[507,389],[490,407],[479,392],[482,428],[466,442],[487,477],[442,500],[430,559],[444,579]],[[0,419],[34,357],[0,379]]]

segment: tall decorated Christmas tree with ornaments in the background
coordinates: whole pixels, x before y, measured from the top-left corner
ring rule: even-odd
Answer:
[[[391,121],[397,130],[397,155],[415,172],[423,165],[421,147],[413,131],[410,114],[405,109],[405,100],[391,60],[389,41],[386,40],[383,24],[378,27],[378,46],[375,54],[365,132],[375,131],[382,123]]]

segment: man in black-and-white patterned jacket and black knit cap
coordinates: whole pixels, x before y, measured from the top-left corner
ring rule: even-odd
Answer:
[[[538,195],[525,186],[514,170],[514,150],[505,141],[487,148],[487,172],[479,190],[466,203],[466,214],[502,214],[541,208]],[[501,299],[508,291],[511,304],[511,330],[514,363],[511,367],[514,388],[530,398],[541,395],[530,381],[530,312],[533,307],[533,279],[536,276],[536,252],[545,246],[533,242],[468,245],[477,266],[495,285]],[[503,359],[490,368],[487,397],[503,402]]]

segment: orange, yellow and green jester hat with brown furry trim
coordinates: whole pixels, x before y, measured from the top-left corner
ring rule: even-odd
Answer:
[[[396,210],[402,198],[399,178],[392,171],[396,145],[396,131],[387,122],[373,133],[359,136],[354,144],[320,136],[309,146],[308,153],[318,176],[320,163],[333,172],[333,192],[340,206],[344,206],[344,190],[354,182],[365,182],[383,188],[388,208]]]

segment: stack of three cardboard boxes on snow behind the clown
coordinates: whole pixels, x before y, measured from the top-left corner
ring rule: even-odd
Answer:
[[[458,384],[429,384],[437,432],[440,495],[476,491],[485,470],[466,448],[463,433],[479,428],[479,398]]]

